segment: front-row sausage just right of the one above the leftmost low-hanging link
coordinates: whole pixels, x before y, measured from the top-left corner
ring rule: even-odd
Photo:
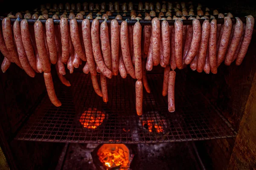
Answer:
[[[57,62],[57,49],[56,49],[56,42],[55,42],[54,23],[52,18],[49,18],[46,20],[45,28],[46,28],[47,44],[49,47],[50,60],[52,64],[55,64]]]

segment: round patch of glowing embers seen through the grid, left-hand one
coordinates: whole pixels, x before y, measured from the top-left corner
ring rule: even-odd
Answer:
[[[104,119],[105,114],[102,111],[97,111],[96,108],[89,108],[88,111],[84,111],[84,113],[82,113],[79,122],[81,122],[81,125],[85,128],[95,129],[102,124]]]

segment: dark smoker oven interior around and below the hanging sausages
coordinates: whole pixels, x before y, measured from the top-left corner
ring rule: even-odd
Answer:
[[[243,2],[202,4],[234,16],[256,16],[255,5]],[[10,3],[3,1],[4,16],[40,5]],[[240,66],[221,64],[217,74],[198,73],[189,67],[177,70],[173,113],[168,112],[167,96],[161,93],[164,68],[160,66],[147,72],[151,93],[143,90],[143,116],[137,116],[135,80],[130,76],[109,79],[109,102],[104,103],[93,91],[90,74],[84,74],[81,67],[73,74],[67,71],[70,87],[52,69],[62,102],[57,108],[47,96],[42,74],[31,78],[11,65],[6,73],[0,72],[0,146],[10,169],[94,170],[91,152],[108,143],[125,144],[132,150],[132,170],[256,167],[252,147],[256,143],[255,35]],[[81,124],[82,114],[91,109],[104,113],[95,129]],[[96,122],[95,117],[87,116]]]

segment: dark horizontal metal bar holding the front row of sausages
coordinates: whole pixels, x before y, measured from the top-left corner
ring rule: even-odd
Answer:
[[[246,23],[246,17],[239,17],[241,19],[241,21],[243,23]],[[2,21],[4,19],[4,17],[0,17],[0,21]],[[254,17],[254,19],[256,19],[256,17]],[[17,20],[16,18],[10,18],[11,22],[14,23],[15,20]],[[19,21],[23,20],[21,18],[18,18]],[[200,23],[203,24],[205,19],[199,19]],[[212,21],[212,19],[207,19],[209,20],[209,22]],[[223,24],[224,23],[224,18],[217,18],[217,24]],[[231,18],[232,23],[235,24],[236,23],[236,18]],[[34,24],[37,20],[36,19],[27,19],[29,24]],[[46,20],[40,20],[41,23],[45,24]],[[60,24],[60,19],[57,20],[53,20],[54,23],[56,25]],[[83,20],[77,20],[77,23],[81,24]],[[101,24],[104,20],[99,20],[99,23]],[[125,20],[117,20],[119,25],[121,25],[121,23]],[[135,23],[137,23],[137,20],[126,20],[128,25],[134,25]],[[163,20],[160,20],[160,23],[162,23]],[[187,26],[187,25],[192,25],[192,21],[193,20],[182,20],[183,21],[183,25]],[[70,22],[70,19],[68,19],[68,22]],[[90,20],[90,23],[92,23],[93,20]],[[142,26],[148,26],[151,25],[151,20],[139,20],[140,24]],[[170,26],[174,26],[175,20],[167,20],[167,22],[169,23]],[[111,23],[111,19],[107,20],[107,23],[110,24]]]

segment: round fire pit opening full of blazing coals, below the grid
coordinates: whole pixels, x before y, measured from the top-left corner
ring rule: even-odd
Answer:
[[[103,144],[97,151],[97,155],[106,169],[127,169],[132,159],[125,144]]]

